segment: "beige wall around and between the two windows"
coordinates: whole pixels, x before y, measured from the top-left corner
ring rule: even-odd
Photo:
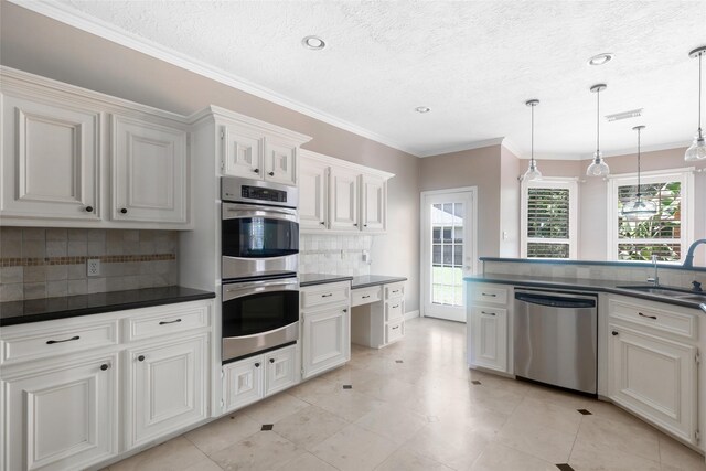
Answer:
[[[706,168],[704,163],[684,161],[685,148],[643,152],[641,158],[642,171],[656,171],[695,167]],[[634,153],[606,158],[611,174],[635,173],[638,156]],[[524,169],[527,160],[520,165]],[[541,160],[539,170],[545,176],[577,176],[579,179],[579,247],[578,258],[584,260],[606,260],[608,253],[606,212],[608,211],[608,181],[600,178],[586,176],[589,161]],[[706,237],[706,172],[694,175],[694,237]],[[695,264],[706,266],[706,247],[696,251]]]

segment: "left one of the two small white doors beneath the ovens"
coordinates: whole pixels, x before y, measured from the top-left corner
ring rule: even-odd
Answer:
[[[254,356],[223,365],[224,413],[235,410],[265,396],[265,358]]]

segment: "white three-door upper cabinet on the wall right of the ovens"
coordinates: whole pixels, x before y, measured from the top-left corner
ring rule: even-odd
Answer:
[[[394,174],[304,149],[299,158],[301,231],[385,232]]]

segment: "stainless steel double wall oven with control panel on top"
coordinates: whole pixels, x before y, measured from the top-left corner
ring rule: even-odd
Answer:
[[[224,176],[222,289],[224,363],[299,338],[296,188]]]

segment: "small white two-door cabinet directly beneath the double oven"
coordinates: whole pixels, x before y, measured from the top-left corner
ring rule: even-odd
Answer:
[[[223,365],[223,413],[229,413],[299,383],[297,345]]]

